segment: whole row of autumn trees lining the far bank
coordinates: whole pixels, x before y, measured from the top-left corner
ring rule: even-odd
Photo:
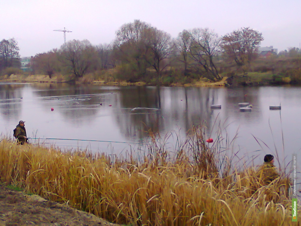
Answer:
[[[72,40],[31,59],[34,74],[85,74],[130,82],[189,82],[204,77],[219,81],[227,72],[246,75],[258,58],[262,33],[249,27],[219,36],[208,28],[183,30],[172,39],[165,31],[135,20],[122,25],[110,44],[93,46]],[[0,43],[0,70],[15,66],[19,49],[14,39]],[[279,55],[298,55],[299,49]]]

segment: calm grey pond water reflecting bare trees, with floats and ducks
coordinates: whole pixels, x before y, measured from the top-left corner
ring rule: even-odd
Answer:
[[[252,111],[241,112],[238,102],[249,102]],[[222,108],[212,109],[212,104]],[[281,111],[269,110],[270,105],[280,104]],[[147,131],[152,129],[162,137],[173,134],[166,141],[172,151],[175,141],[185,140],[192,125],[201,122],[206,124],[208,138],[216,138],[218,127],[224,139],[237,136],[234,151],[246,162],[258,156],[259,164],[265,154],[275,155],[277,149],[287,164],[301,148],[301,89],[294,86],[229,89],[0,83],[0,112],[2,136],[12,137],[23,120],[28,137],[51,138],[39,143],[63,150],[135,152],[143,149]]]

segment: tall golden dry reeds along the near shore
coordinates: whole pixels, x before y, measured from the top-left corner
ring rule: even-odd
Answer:
[[[254,166],[233,165],[220,139],[209,147],[201,128],[192,134],[173,159],[155,134],[148,153],[114,159],[4,138],[0,182],[118,224],[291,225],[288,174],[263,186]]]

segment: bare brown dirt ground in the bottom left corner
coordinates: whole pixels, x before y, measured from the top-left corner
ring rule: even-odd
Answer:
[[[0,226],[119,226],[37,195],[25,195],[0,185]]]

